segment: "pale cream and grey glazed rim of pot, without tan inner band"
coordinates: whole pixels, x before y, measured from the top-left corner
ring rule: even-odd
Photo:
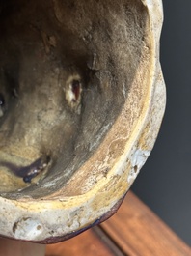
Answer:
[[[153,42],[155,59],[152,63],[154,69],[150,78],[153,82],[149,109],[141,120],[141,124],[140,122],[137,124],[123,156],[109,172],[104,183],[97,183],[90,192],[77,196],[77,206],[75,205],[76,197],[55,201],[44,200],[38,203],[19,202],[0,197],[2,236],[33,242],[43,242],[51,237],[54,242],[57,242],[58,237],[75,235],[77,231],[94,224],[95,220],[108,213],[123,198],[150,155],[165,108],[165,85],[158,60],[161,30],[158,24],[162,23],[163,17],[160,0],[142,2],[148,6],[151,33],[155,41]],[[116,183],[110,185],[108,193],[104,186],[109,184],[114,176]],[[7,219],[10,221],[8,222]]]

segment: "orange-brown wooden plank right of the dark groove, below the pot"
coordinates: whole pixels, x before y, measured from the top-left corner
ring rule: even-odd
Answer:
[[[191,250],[133,193],[101,227],[130,256],[189,256]]]

